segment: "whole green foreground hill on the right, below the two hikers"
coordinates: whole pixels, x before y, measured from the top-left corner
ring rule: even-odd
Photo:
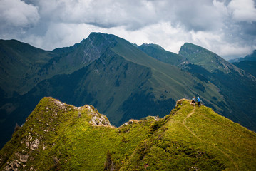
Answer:
[[[123,170],[255,170],[254,132],[188,100],[167,117]]]

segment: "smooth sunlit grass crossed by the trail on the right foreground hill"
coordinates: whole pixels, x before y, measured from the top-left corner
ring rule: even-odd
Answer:
[[[167,131],[171,139],[211,152],[224,162],[226,170],[254,170],[256,134],[207,107],[185,105],[176,113]],[[179,131],[177,131],[179,130]],[[242,155],[242,160],[241,160]]]

